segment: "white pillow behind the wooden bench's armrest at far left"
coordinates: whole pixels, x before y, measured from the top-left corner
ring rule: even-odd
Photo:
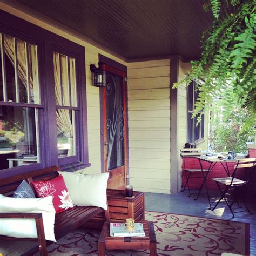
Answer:
[[[0,212],[42,213],[45,239],[56,242],[54,235],[55,209],[52,196],[45,198],[13,198],[0,194]],[[35,219],[0,221],[0,234],[8,237],[37,238]]]

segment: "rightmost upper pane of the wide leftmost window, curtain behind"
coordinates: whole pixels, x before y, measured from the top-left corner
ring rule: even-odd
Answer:
[[[30,102],[40,104],[37,46],[33,44],[29,44],[29,82]]]

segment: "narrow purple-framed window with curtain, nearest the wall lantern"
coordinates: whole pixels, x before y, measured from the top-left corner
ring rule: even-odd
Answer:
[[[53,52],[58,158],[76,155],[77,107],[75,59]]]

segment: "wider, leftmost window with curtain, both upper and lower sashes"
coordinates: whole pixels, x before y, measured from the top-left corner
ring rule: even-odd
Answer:
[[[39,162],[37,46],[0,33],[0,169]]]

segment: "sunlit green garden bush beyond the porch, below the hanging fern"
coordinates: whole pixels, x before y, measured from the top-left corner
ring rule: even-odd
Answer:
[[[215,152],[234,150],[246,153],[246,142],[254,141],[253,120],[248,119],[250,109],[235,107],[229,116],[223,116],[222,100],[211,105],[210,146]],[[254,116],[255,118],[255,116]]]

